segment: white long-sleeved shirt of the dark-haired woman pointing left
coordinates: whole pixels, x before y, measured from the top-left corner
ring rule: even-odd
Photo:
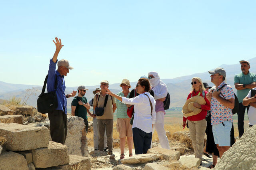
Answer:
[[[148,97],[152,103],[152,115],[151,115],[151,107]],[[150,93],[145,92],[144,94],[140,94],[134,98],[128,99],[126,97],[122,97],[122,103],[134,105],[134,120],[132,128],[139,128],[146,133],[152,132],[152,124],[156,121],[156,111],[155,105],[156,101],[154,97],[150,95]]]

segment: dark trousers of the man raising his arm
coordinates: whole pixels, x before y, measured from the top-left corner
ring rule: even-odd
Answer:
[[[67,115],[63,111],[55,110],[48,113],[48,117],[52,141],[64,144],[68,130]]]

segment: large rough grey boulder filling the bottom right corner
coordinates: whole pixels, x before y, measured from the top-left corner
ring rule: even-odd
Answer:
[[[255,170],[256,169],[256,125],[247,128],[240,140],[224,154],[216,170]]]

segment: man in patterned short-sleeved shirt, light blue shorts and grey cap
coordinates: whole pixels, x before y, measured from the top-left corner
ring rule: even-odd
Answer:
[[[209,73],[216,88],[208,92],[206,98],[211,103],[212,133],[221,158],[223,153],[230,148],[235,96],[232,87],[224,81],[226,71],[223,68],[218,67]]]

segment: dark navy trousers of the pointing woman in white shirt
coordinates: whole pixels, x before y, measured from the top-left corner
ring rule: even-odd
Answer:
[[[152,132],[146,133],[139,128],[132,128],[135,154],[146,154],[150,149]]]

